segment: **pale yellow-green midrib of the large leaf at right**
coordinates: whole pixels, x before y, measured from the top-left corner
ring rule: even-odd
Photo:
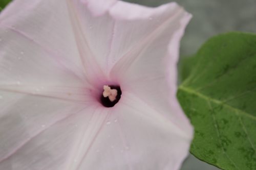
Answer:
[[[209,100],[209,101],[211,101],[213,103],[216,103],[216,104],[222,104],[222,105],[226,106],[227,108],[236,111],[238,114],[245,115],[245,116],[250,117],[250,118],[252,118],[253,120],[256,121],[256,117],[255,116],[253,116],[253,115],[251,115],[251,114],[249,114],[249,113],[247,113],[247,112],[245,112],[243,110],[240,110],[238,108],[230,106],[230,105],[228,105],[228,104],[226,104],[226,103],[224,103],[224,102],[222,102],[220,100],[217,100],[217,99],[214,99],[214,98],[210,98],[210,97],[208,97],[208,96],[206,96],[206,95],[204,95],[204,94],[202,94],[202,93],[200,93],[200,92],[198,92],[198,91],[196,91],[194,89],[191,89],[191,88],[184,87],[184,86],[180,85],[179,86],[179,90],[183,90],[183,91],[185,91],[187,93],[191,93],[191,94],[196,94],[197,96],[199,96],[200,98],[202,98],[202,99],[204,99],[206,101]]]

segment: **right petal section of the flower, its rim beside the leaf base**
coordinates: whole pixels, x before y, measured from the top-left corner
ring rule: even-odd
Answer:
[[[127,13],[125,17],[118,10],[120,7],[115,10],[113,7],[112,12],[126,19],[119,23],[126,33],[123,35],[135,37],[131,38],[132,41],[126,36],[120,38],[127,39],[126,46],[130,45],[130,48],[120,50],[127,49],[111,70],[111,78],[120,82],[122,90],[136,94],[159,113],[174,120],[184,131],[191,131],[188,119],[176,99],[179,43],[190,14],[172,3],[158,7],[151,19],[146,14],[140,15],[139,10],[132,13],[131,7],[124,9]],[[140,19],[135,19],[136,16]],[[122,37],[121,31],[117,37]]]

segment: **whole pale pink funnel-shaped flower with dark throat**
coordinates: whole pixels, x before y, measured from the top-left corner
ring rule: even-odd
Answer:
[[[193,136],[176,99],[189,19],[176,3],[12,2],[0,15],[0,169],[178,169]]]

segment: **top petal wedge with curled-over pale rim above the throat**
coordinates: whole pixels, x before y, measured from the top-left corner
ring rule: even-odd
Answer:
[[[149,8],[122,1],[76,0],[73,5],[83,35],[103,72],[108,72],[116,61],[137,48],[163,22],[184,13],[176,3]]]

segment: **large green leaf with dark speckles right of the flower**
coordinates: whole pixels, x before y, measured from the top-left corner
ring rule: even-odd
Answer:
[[[177,96],[195,127],[190,152],[230,170],[256,169],[256,35],[207,41]]]

